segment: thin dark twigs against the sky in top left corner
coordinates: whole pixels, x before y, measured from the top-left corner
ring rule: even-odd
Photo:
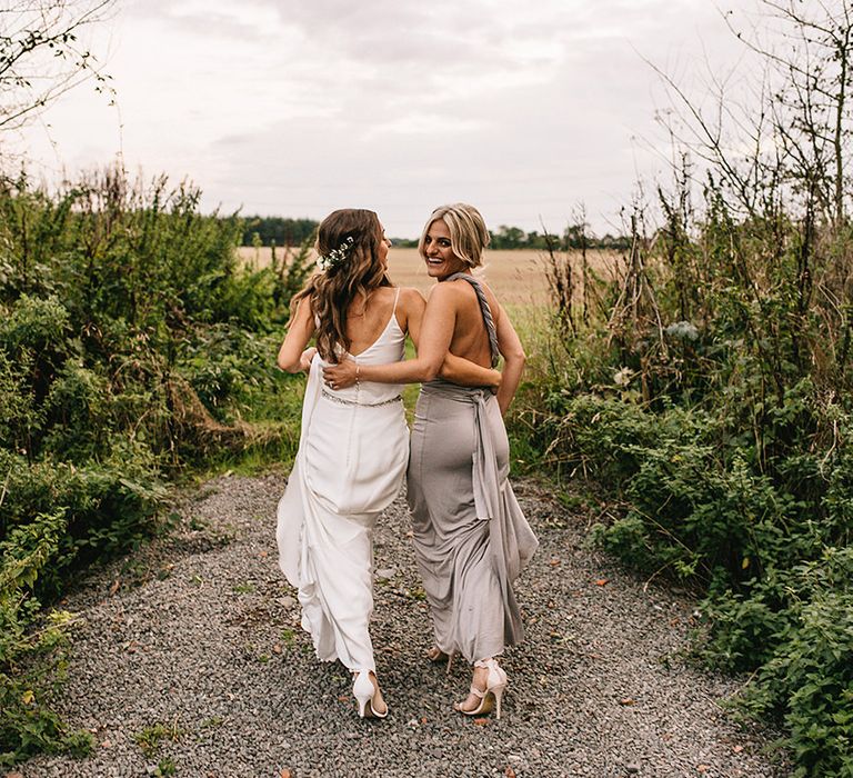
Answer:
[[[0,8],[0,130],[22,127],[79,83],[109,89],[80,36],[116,0],[9,0]]]

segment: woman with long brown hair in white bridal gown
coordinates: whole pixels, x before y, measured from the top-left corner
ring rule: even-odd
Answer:
[[[360,371],[402,359],[407,333],[419,342],[425,306],[417,290],[389,281],[389,246],[373,211],[328,216],[318,229],[321,270],[294,297],[278,357],[282,370],[309,372],[299,453],[278,510],[280,566],[299,589],[318,658],[340,659],[354,674],[362,718],[388,715],[368,628],[372,531],[401,486],[409,430],[400,387]],[[323,368],[344,358],[354,366],[352,386],[323,386]],[[500,382],[496,371],[455,358],[443,375]]]

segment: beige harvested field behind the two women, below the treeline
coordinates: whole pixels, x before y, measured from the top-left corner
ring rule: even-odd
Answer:
[[[277,249],[281,257],[281,249]],[[270,249],[243,246],[240,256],[255,268],[270,263]],[[434,281],[426,275],[418,249],[392,248],[388,257],[391,280],[403,287],[414,287],[426,292]],[[486,251],[482,273],[486,282],[504,305],[542,305],[548,301],[548,257],[542,251]],[[571,255],[572,266],[580,267],[580,253]],[[621,256],[615,251],[588,251],[590,267],[604,278],[615,275]]]

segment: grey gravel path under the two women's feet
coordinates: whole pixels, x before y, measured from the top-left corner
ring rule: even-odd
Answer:
[[[469,684],[431,645],[404,502],[377,531],[372,635],[391,708],[360,720],[339,664],[321,665],[280,576],[273,521],[285,479],[222,477],[177,507],[177,532],[83,582],[60,710],[97,741],[88,759],[39,757],[37,776],[199,778],[501,776],[781,778],[767,738],[720,701],[737,685],[680,658],[692,604],[583,546],[582,521],[532,482],[540,538],[518,594],[528,638],[502,662],[503,716],[452,710]],[[140,746],[148,746],[143,749]],[[159,767],[158,767],[159,766]]]

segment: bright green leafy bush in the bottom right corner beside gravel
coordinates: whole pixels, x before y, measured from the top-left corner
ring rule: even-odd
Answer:
[[[712,601],[709,658],[731,669],[755,666],[743,705],[783,724],[796,776],[851,775],[853,725],[853,549],[772,570],[749,597]]]

